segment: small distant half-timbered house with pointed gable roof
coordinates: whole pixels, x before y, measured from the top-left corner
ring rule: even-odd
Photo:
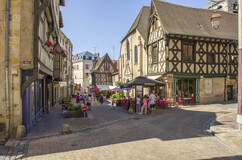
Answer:
[[[116,67],[106,53],[91,67],[91,76],[89,76],[91,88],[97,87],[97,85],[112,86],[112,74],[115,72],[117,72]]]

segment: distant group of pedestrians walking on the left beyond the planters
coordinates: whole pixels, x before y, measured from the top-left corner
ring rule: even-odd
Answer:
[[[100,102],[100,106],[102,106],[102,104],[104,102],[102,94],[100,95],[99,102]],[[95,95],[91,95],[91,94],[80,95],[79,93],[77,93],[76,94],[76,103],[77,104],[82,103],[85,106],[87,106],[88,110],[90,110],[93,105],[98,105],[98,97]]]

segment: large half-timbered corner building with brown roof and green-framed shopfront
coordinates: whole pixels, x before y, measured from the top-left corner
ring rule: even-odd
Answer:
[[[169,98],[194,96],[197,103],[237,97],[237,15],[153,0],[147,34],[149,78],[167,83]]]

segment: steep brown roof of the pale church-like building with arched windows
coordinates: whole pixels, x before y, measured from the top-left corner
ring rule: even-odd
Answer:
[[[137,29],[141,36],[143,38],[146,38],[147,36],[147,29],[148,29],[148,22],[149,22],[149,16],[150,16],[150,7],[144,6],[138,16],[136,17],[134,23],[130,27],[128,33],[126,36],[123,38],[122,42],[124,41],[125,38],[127,38],[135,29]]]

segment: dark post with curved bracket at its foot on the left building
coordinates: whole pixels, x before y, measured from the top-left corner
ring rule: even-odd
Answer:
[[[33,83],[36,79],[38,79],[38,35],[39,35],[39,23],[40,23],[40,15],[44,11],[46,7],[48,7],[49,0],[45,0],[44,3],[39,6],[40,0],[34,1],[34,49],[33,49],[33,76],[30,77],[27,81],[25,81],[21,86],[21,96],[24,96],[26,89],[31,83]]]

